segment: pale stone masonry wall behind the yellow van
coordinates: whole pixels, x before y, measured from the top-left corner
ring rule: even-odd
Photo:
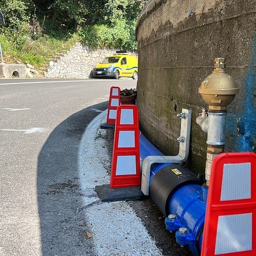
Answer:
[[[54,78],[89,78],[92,69],[105,56],[113,55],[117,49],[100,48],[92,50],[88,46],[77,43],[67,54],[56,61],[50,61],[45,77]],[[137,56],[136,52],[127,52]]]

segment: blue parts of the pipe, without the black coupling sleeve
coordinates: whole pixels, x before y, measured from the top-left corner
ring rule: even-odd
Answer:
[[[140,162],[147,156],[163,155],[153,146],[143,134],[140,134]],[[150,185],[157,172],[167,164],[153,164],[150,174]],[[176,241],[180,245],[189,246],[195,255],[200,255],[203,240],[203,226],[207,202],[208,189],[198,184],[186,184],[178,188],[169,201],[169,214],[175,215],[176,219],[165,218],[167,230],[176,231]],[[178,230],[180,227],[187,228],[183,234]]]

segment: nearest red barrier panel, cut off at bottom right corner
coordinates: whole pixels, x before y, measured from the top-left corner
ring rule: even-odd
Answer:
[[[201,255],[256,255],[256,154],[212,163]]]

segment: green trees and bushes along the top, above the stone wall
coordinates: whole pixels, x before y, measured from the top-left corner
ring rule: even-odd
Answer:
[[[17,49],[39,38],[80,40],[97,47],[136,49],[135,26],[142,0],[0,0],[6,20],[2,35]]]

